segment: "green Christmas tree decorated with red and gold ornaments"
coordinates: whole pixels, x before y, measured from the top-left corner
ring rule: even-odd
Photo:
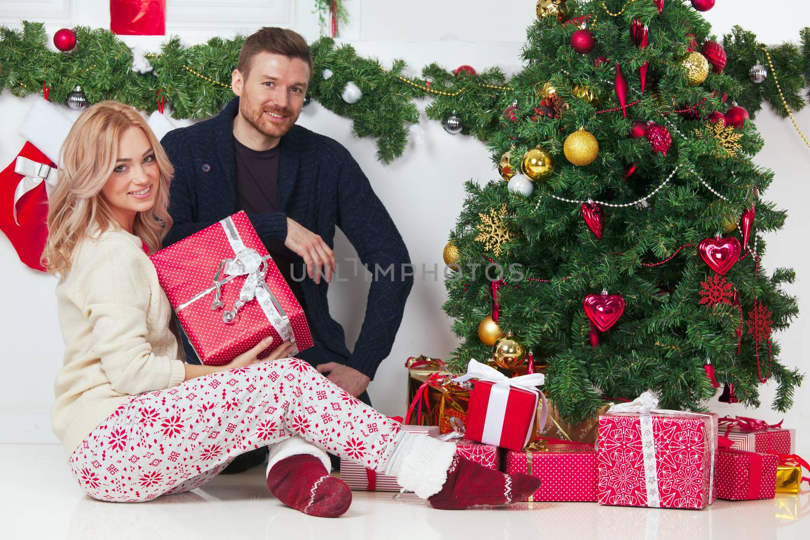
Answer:
[[[798,313],[795,274],[762,266],[786,215],[762,198],[773,173],[712,5],[538,2],[488,142],[502,178],[467,183],[445,249],[458,371],[533,351],[573,421],[646,389],[695,410],[726,384],[758,406],[770,379],[791,406],[802,376],[771,333]]]

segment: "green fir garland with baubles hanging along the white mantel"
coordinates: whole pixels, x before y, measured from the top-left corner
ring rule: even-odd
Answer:
[[[157,108],[160,90],[175,118],[210,117],[231,99],[231,72],[245,39],[213,37],[204,45],[187,47],[179,37],[170,37],[159,53],[146,54],[153,69],[142,74],[132,70],[132,49],[109,30],[76,27],[75,49],[61,53],[49,48],[43,23],[23,21],[22,27],[0,27],[0,83],[13,95],[42,91],[45,83],[50,100],[66,102],[79,86],[90,103],[117,100],[151,112]],[[533,24],[528,32],[535,30]],[[782,94],[794,111],[807,104],[804,89],[810,86],[810,28],[801,31],[800,41],[800,45],[769,48]],[[735,27],[723,36],[723,45],[728,57],[726,73],[744,83],[744,91],[731,99],[752,116],[767,101],[774,113],[787,117],[773,74],[758,85],[748,80],[751,66],[766,63],[757,36]],[[314,41],[311,48],[314,74],[309,96],[333,113],[350,118],[357,137],[376,138],[377,158],[386,164],[403,155],[408,127],[419,121],[416,100],[432,98],[425,108],[428,118],[443,122],[455,114],[463,121],[461,133],[481,141],[501,130],[503,112],[515,100],[509,80],[497,67],[472,75],[463,70],[456,74],[432,63],[422,68],[421,78],[413,78],[404,74],[407,65],[403,60],[394,60],[386,70],[376,58],[359,56],[352,45],[336,47],[330,37]],[[331,72],[330,77],[324,77],[325,70]],[[363,92],[355,104],[341,97],[350,81]]]

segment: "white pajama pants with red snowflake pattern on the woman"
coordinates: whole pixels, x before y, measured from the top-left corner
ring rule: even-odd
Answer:
[[[141,502],[192,490],[296,434],[382,473],[398,432],[306,362],[280,359],[134,396],[79,444],[70,471],[94,499]]]

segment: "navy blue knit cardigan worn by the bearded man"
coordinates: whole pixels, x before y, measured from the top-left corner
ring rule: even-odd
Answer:
[[[232,122],[238,108],[237,97],[218,116],[173,130],[161,141],[174,165],[169,198],[174,225],[166,245],[234,213]],[[335,225],[340,227],[371,272],[376,265],[382,270],[394,265],[393,274],[381,270],[371,283],[363,326],[352,353],[346,347],[343,327],[330,317],[326,279],[316,284],[305,277],[301,283],[313,338],[347,359],[349,367],[373,378],[377,366],[390,353],[413,286],[403,238],[360,166],[339,142],[293,125],[281,138],[279,148],[279,202],[283,211],[249,215],[262,241],[285,240],[289,216],[320,235],[332,249]],[[340,261],[338,253],[335,259]],[[346,270],[344,267],[343,276]],[[295,275],[303,271],[296,268]]]

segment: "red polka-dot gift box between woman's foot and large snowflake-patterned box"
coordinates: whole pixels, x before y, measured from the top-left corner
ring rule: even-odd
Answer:
[[[533,474],[540,488],[528,501],[596,501],[596,451],[592,444],[538,440],[526,452],[509,450],[506,474]]]

